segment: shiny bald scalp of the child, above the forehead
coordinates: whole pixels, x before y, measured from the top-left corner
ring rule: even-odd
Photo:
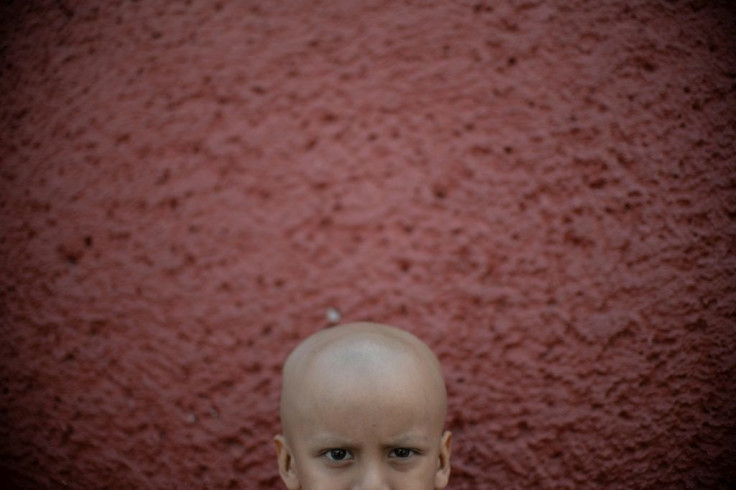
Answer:
[[[376,323],[322,330],[299,344],[284,364],[280,404],[284,434],[288,439],[301,407],[321,389],[329,392],[332,386],[345,386],[370,394],[407,385],[423,388],[428,408],[439,424],[444,423],[447,393],[442,368],[424,342]]]

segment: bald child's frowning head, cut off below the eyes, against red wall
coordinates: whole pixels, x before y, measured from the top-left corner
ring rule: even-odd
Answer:
[[[445,488],[446,411],[439,362],[410,333],[371,323],[322,330],[284,365],[281,478],[290,490]]]

